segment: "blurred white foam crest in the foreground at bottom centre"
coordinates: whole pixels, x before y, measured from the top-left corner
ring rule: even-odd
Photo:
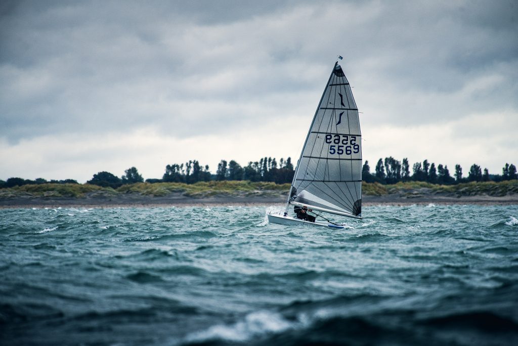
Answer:
[[[280,333],[295,325],[286,321],[278,313],[267,311],[257,311],[249,313],[244,321],[236,322],[232,325],[214,325],[207,330],[189,334],[186,337],[188,342],[204,342],[208,340],[223,340],[242,342],[252,337],[257,337],[269,333]]]

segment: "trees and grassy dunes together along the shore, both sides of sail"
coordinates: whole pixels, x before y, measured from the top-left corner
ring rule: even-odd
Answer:
[[[161,179],[146,179],[136,167],[128,168],[119,178],[107,171],[94,174],[86,184],[76,180],[51,180],[42,178],[27,180],[9,178],[0,180],[0,198],[9,197],[70,197],[116,196],[119,194],[140,194],[146,196],[167,196],[180,194],[186,197],[210,196],[273,196],[287,194],[295,173],[291,157],[277,162],[276,158],[264,157],[247,166],[236,161],[221,160],[215,174],[208,165],[197,160],[185,164],[171,164],[165,167]],[[448,166],[429,163],[412,165],[412,174],[407,158],[402,162],[395,158],[380,158],[371,173],[369,162],[362,169],[363,194],[382,196],[399,194],[416,197],[420,193],[445,194],[450,196],[489,195],[505,196],[518,193],[516,166],[506,163],[501,175],[489,174],[488,170],[473,164],[467,176],[462,167],[455,165],[453,175]]]

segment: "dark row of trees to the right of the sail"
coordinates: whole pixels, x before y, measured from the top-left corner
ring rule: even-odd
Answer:
[[[489,174],[487,168],[482,168],[473,164],[468,171],[468,176],[463,177],[461,165],[455,165],[453,175],[447,165],[429,163],[428,160],[416,162],[412,165],[412,174],[410,174],[410,165],[407,158],[401,161],[394,157],[380,158],[375,167],[375,172],[371,174],[369,162],[365,161],[362,168],[362,179],[366,182],[379,182],[381,184],[395,184],[405,181],[426,181],[432,184],[459,184],[470,181],[503,181],[518,179],[516,166],[506,163],[502,168],[502,175]]]

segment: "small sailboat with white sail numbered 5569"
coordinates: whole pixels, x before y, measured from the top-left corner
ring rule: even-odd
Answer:
[[[298,219],[290,207],[303,208],[317,220]],[[351,86],[338,60],[309,127],[286,208],[268,213],[268,222],[348,227],[323,214],[362,219],[362,135]]]

